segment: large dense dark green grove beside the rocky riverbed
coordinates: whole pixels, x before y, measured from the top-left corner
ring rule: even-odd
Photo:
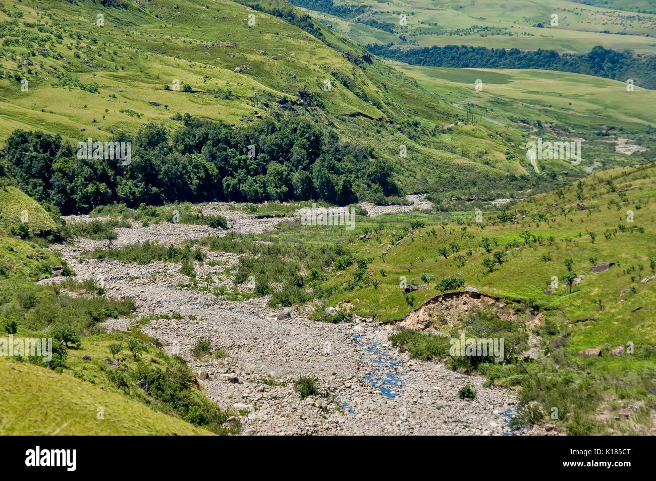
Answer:
[[[308,17],[309,18],[309,17]],[[77,159],[60,136],[17,130],[0,151],[18,185],[64,214],[89,212],[121,202],[129,207],[184,201],[289,201],[321,199],[350,204],[376,186],[400,193],[392,168],[369,159],[359,145],[340,142],[335,132],[306,119],[263,121],[233,128],[192,119],[174,134],[145,125],[132,142],[131,163],[120,159]],[[255,157],[248,145],[255,145]],[[359,192],[359,194],[358,194]],[[213,222],[225,227],[220,219]]]

